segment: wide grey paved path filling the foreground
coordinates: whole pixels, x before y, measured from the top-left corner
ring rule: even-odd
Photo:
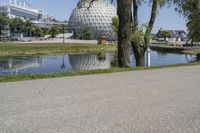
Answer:
[[[200,133],[200,66],[0,84],[1,133]]]

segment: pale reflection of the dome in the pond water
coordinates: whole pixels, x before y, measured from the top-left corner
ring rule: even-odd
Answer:
[[[108,69],[111,67],[112,53],[69,55],[73,71]]]

